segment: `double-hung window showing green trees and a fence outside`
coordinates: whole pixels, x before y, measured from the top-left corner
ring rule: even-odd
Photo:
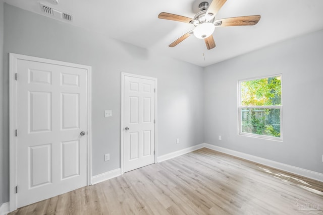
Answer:
[[[239,134],[282,140],[282,76],[239,81]]]

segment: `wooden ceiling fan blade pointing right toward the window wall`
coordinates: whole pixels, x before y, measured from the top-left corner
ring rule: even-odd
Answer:
[[[214,21],[216,27],[226,27],[226,26],[244,26],[244,25],[255,25],[259,22],[260,15],[245,16],[245,17],[231,17],[221,20]],[[217,23],[220,23],[217,25]]]

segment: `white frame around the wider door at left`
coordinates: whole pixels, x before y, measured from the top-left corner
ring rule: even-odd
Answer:
[[[17,127],[17,82],[16,82],[16,70],[18,60],[29,60],[43,63],[50,63],[62,66],[76,67],[86,69],[86,83],[87,83],[87,185],[91,185],[91,175],[92,175],[92,130],[91,130],[91,86],[92,86],[92,67],[87,65],[81,65],[76,63],[69,63],[58,60],[45,59],[40,57],[33,57],[22,54],[9,53],[9,194],[10,194],[10,211],[17,209],[17,137],[15,136],[15,130]],[[18,77],[19,79],[19,77]]]

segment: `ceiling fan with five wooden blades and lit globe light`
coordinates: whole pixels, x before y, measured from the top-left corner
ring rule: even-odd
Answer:
[[[189,23],[195,26],[195,28],[169,45],[169,47],[175,47],[180,42],[188,38],[191,34],[199,39],[204,39],[207,49],[216,47],[216,42],[213,39],[214,28],[226,27],[226,26],[245,26],[255,25],[260,20],[260,15],[244,16],[244,17],[231,17],[225,19],[216,20],[215,17],[218,11],[226,3],[227,0],[196,0],[194,4],[198,4],[199,12],[194,16],[193,19],[170,13],[160,13],[159,19],[174,20],[184,23]]]

